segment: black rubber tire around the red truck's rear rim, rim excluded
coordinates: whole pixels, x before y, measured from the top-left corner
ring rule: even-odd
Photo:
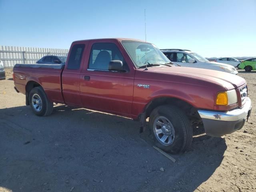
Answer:
[[[33,106],[32,99],[34,95],[38,95],[42,101],[42,107],[40,111],[37,111]],[[35,87],[29,92],[29,104],[34,114],[37,116],[48,116],[53,111],[53,103],[48,100],[42,87]]]

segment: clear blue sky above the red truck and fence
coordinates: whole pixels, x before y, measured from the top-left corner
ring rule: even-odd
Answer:
[[[0,45],[124,37],[204,57],[256,56],[256,0],[0,0]]]

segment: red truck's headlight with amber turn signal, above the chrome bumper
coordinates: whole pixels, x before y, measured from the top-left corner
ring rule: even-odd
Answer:
[[[237,103],[237,94],[236,90],[229,90],[225,92],[220,92],[216,97],[216,105],[232,105]]]

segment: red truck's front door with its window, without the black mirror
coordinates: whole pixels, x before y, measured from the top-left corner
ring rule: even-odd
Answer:
[[[130,116],[134,70],[129,69],[120,51],[120,44],[111,41],[95,42],[88,52],[88,60],[80,74],[83,106]],[[111,60],[121,60],[125,72],[109,71]]]

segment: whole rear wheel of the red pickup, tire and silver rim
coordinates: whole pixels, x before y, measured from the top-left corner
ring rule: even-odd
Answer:
[[[29,92],[29,104],[38,116],[48,116],[53,111],[53,103],[48,100],[42,87],[35,87]]]

